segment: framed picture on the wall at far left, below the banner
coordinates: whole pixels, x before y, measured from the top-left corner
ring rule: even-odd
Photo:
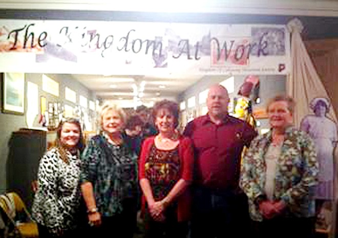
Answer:
[[[2,73],[2,112],[24,115],[25,113],[25,74]]]

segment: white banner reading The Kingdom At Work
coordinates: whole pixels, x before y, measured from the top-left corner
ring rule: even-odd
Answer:
[[[284,25],[0,20],[0,71],[288,74]]]

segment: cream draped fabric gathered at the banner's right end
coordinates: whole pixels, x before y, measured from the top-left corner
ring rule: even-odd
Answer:
[[[291,74],[287,78],[287,94],[296,101],[293,122],[299,127],[302,119],[313,114],[309,104],[313,98],[329,96],[318,76],[310,56],[301,38],[303,25],[297,18],[289,21],[288,30],[291,33]],[[333,107],[330,107],[327,117],[337,122]]]

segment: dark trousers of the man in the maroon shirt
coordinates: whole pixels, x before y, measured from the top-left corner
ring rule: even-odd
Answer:
[[[247,237],[250,219],[244,193],[193,187],[192,238]]]

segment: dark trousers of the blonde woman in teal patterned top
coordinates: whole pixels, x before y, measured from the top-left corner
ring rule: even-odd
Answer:
[[[82,237],[132,238],[136,228],[137,201],[136,199],[126,199],[122,205],[123,211],[121,213],[112,217],[102,217],[102,223],[99,227],[87,226],[83,228],[81,231]]]

